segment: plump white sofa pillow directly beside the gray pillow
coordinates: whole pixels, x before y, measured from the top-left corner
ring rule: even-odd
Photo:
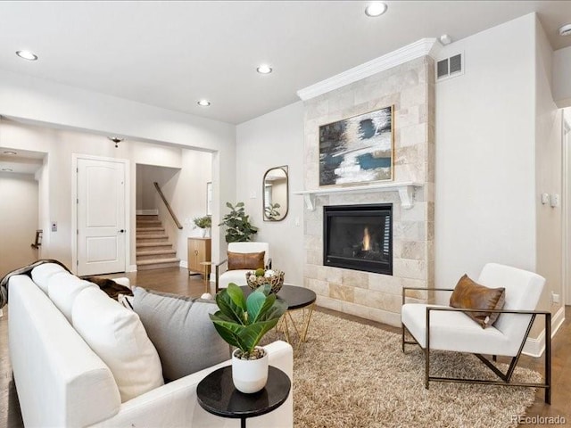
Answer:
[[[98,288],[79,293],[73,305],[73,327],[109,366],[121,401],[161,386],[161,360],[139,316]]]

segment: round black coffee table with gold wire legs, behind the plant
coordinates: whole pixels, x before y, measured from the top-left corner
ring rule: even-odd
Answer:
[[[253,292],[248,285],[242,285],[240,288],[244,291],[244,296],[246,297]],[[287,303],[287,311],[280,321],[281,325],[278,325],[278,330],[285,334],[285,340],[288,343],[293,344],[289,332],[289,325],[291,324],[295,333],[297,333],[296,349],[299,349],[302,342],[307,340],[307,332],[310,328],[311,315],[313,314],[317,296],[309,288],[287,284],[282,285],[282,288],[277,292],[277,296]],[[301,322],[298,320],[297,323],[294,321],[294,317],[292,317],[292,311],[296,309],[303,309],[302,320]]]

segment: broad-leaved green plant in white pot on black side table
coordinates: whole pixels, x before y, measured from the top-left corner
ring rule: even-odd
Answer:
[[[268,381],[268,352],[258,346],[264,334],[277,325],[287,309],[266,284],[247,299],[236,284],[216,295],[219,310],[210,314],[219,335],[231,346],[232,380],[236,390],[246,394],[261,391]]]

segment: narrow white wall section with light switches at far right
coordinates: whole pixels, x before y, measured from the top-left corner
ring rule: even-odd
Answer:
[[[536,272],[546,279],[540,309],[555,314],[562,303],[551,304],[551,292],[563,294],[563,227],[561,202],[551,207],[542,204],[541,194],[562,194],[562,111],[551,95],[552,49],[539,21],[535,40],[535,177],[536,177]]]

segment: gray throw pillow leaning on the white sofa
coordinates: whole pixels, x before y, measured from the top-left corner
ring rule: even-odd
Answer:
[[[165,381],[174,381],[230,358],[230,346],[208,314],[218,310],[213,300],[135,288],[133,310],[159,353]]]

